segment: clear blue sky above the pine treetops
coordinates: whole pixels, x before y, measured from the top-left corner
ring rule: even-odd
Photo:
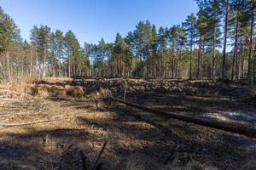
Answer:
[[[181,24],[196,13],[194,0],[0,0],[0,6],[29,39],[34,25],[47,25],[52,31],[72,30],[79,42],[113,42],[119,32],[125,36],[139,20],[159,26]]]

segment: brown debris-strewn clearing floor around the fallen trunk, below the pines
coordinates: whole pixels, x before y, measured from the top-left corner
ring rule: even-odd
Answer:
[[[241,84],[180,80],[44,79],[2,86],[0,169],[82,169],[81,151],[87,169],[255,169],[253,138],[108,99],[125,94],[126,101],[153,109],[256,127],[254,93]],[[36,123],[19,124],[26,122]]]

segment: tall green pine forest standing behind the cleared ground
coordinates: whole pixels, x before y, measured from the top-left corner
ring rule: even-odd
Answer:
[[[81,46],[73,31],[34,26],[22,41],[0,8],[0,78],[168,77],[256,80],[254,0],[196,0],[199,11],[170,28],[140,21],[115,42]],[[183,9],[181,9],[183,10]],[[166,16],[174,17],[174,16]],[[227,50],[230,48],[230,50]]]

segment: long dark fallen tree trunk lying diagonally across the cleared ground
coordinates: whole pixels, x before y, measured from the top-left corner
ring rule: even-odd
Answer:
[[[212,128],[224,130],[226,132],[231,132],[231,133],[239,133],[241,135],[245,135],[250,138],[256,138],[256,128],[247,127],[246,125],[242,125],[241,123],[234,124],[234,123],[229,123],[229,122],[212,121],[212,120],[208,120],[208,119],[204,119],[204,118],[185,116],[185,115],[181,115],[181,114],[177,114],[177,113],[171,113],[171,112],[167,112],[167,111],[151,109],[148,107],[144,107],[141,105],[137,105],[137,104],[127,102],[122,99],[113,98],[113,97],[109,97],[109,99],[112,99],[119,103],[123,103],[125,105],[135,107],[135,108],[143,110],[143,111],[148,111],[148,112],[154,113],[156,115],[171,117],[173,119],[177,119],[177,120],[180,120],[183,122],[191,122],[191,123],[194,123],[197,125],[212,127]]]

